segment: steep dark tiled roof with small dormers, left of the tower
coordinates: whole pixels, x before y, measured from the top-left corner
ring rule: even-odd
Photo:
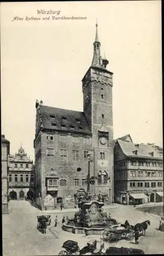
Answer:
[[[45,129],[91,134],[83,112],[40,105],[40,114]]]

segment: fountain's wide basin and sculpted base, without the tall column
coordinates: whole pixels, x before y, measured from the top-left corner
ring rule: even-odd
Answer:
[[[63,230],[75,234],[102,234],[105,228],[117,224],[115,219],[107,217],[107,213],[103,212],[102,201],[86,199],[88,196],[79,199],[79,211],[75,212],[74,219],[63,224]]]

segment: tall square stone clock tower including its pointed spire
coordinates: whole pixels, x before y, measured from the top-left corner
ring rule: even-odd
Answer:
[[[94,193],[101,191],[108,203],[114,202],[114,141],[113,141],[113,73],[106,69],[108,60],[100,55],[98,25],[93,43],[92,65],[84,76],[84,114],[92,132],[94,161],[91,176],[96,177]]]

